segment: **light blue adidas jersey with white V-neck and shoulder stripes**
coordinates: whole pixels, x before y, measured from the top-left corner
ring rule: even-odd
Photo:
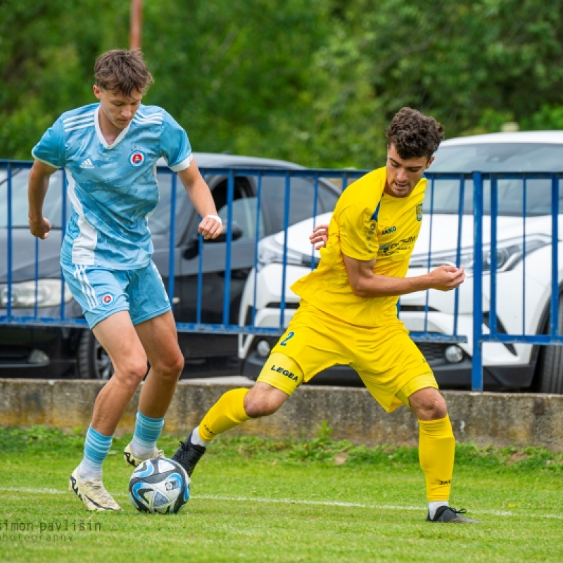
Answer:
[[[61,260],[113,270],[144,267],[153,253],[147,217],[158,203],[156,161],[165,158],[175,172],[186,169],[189,139],[165,110],[141,105],[108,145],[99,111],[92,103],[63,113],[32,151],[67,172],[72,210]]]

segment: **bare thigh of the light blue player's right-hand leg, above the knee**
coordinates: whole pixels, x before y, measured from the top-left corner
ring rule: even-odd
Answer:
[[[178,345],[176,323],[172,311],[135,325],[148,362],[158,371],[181,371],[184,356]]]

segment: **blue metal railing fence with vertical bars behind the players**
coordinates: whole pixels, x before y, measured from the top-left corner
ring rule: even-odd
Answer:
[[[6,233],[4,248],[0,247],[0,324],[19,324],[19,325],[51,325],[60,327],[84,327],[85,322],[80,315],[71,314],[68,312],[68,301],[65,300],[65,286],[63,283],[63,278],[59,272],[58,279],[61,280],[60,291],[59,291],[59,301],[58,312],[53,314],[51,310],[51,315],[46,315],[44,310],[39,308],[39,280],[42,278],[42,272],[39,271],[39,258],[42,253],[42,242],[37,239],[33,242],[33,253],[34,258],[30,260],[33,262],[32,270],[28,269],[27,279],[34,283],[33,296],[28,296],[27,306],[22,307],[21,304],[15,303],[13,291],[14,284],[20,283],[22,281],[20,278],[14,279],[13,276],[13,262],[14,262],[14,252],[18,252],[18,248],[15,248],[15,242],[13,239],[13,234],[15,233],[14,227],[25,227],[21,224],[21,201],[22,194],[18,191],[14,194],[14,184],[15,179],[18,177],[26,177],[27,170],[29,170],[31,163],[11,161],[11,160],[0,160],[0,230],[4,229]],[[235,201],[235,186],[237,179],[242,177],[251,178],[255,183],[255,232],[253,234],[253,245],[251,252],[253,253],[253,259],[251,260],[251,265],[253,266],[253,272],[258,271],[258,255],[259,255],[259,243],[260,243],[260,213],[262,213],[262,202],[264,198],[263,183],[265,179],[275,177],[282,179],[284,182],[284,198],[283,198],[283,209],[279,209],[279,213],[283,215],[283,220],[281,222],[282,230],[284,232],[284,244],[283,244],[283,257],[281,258],[281,288],[286,286],[286,276],[289,267],[288,253],[289,253],[289,240],[288,240],[288,228],[292,224],[291,218],[291,197],[294,195],[291,190],[291,185],[294,179],[301,178],[307,179],[312,183],[312,215],[316,216],[319,209],[317,209],[317,202],[319,200],[319,191],[321,186],[326,187],[326,182],[336,182],[340,184],[342,188],[346,188],[350,181],[357,179],[362,176],[365,171],[362,170],[309,170],[309,169],[297,169],[297,170],[286,170],[286,169],[274,169],[274,168],[261,168],[257,169],[255,167],[241,168],[241,167],[201,167],[201,172],[205,178],[221,176],[227,181],[227,219],[226,224],[232,224],[233,220],[233,204]],[[161,272],[167,272],[167,290],[170,296],[175,296],[176,291],[176,279],[179,275],[179,261],[177,258],[177,247],[178,241],[178,222],[182,220],[181,217],[177,215],[177,205],[179,201],[179,188],[177,186],[177,176],[170,172],[169,169],[163,168],[159,169],[159,173],[165,175],[169,179],[167,189],[170,190],[169,196],[167,196],[167,201],[170,202],[170,229],[167,234],[168,250],[167,250],[167,260],[163,262],[163,266],[159,265]],[[558,241],[559,241],[559,181],[562,179],[562,173],[547,174],[547,173],[526,173],[526,174],[483,174],[480,172],[474,172],[472,175],[467,174],[427,174],[429,178],[429,190],[426,194],[426,219],[425,222],[429,224],[429,239],[427,243],[427,260],[426,260],[426,270],[429,271],[434,265],[434,251],[433,243],[437,236],[443,236],[443,233],[436,229],[439,229],[434,224],[436,217],[438,216],[438,211],[436,210],[436,194],[438,193],[438,184],[440,182],[454,182],[457,186],[457,204],[454,206],[457,209],[457,228],[455,231],[455,244],[452,246],[452,250],[455,251],[455,260],[453,260],[457,265],[462,262],[462,253],[464,250],[464,238],[463,231],[467,227],[467,222],[471,223],[473,229],[472,236],[472,246],[478,251],[474,252],[473,262],[472,262],[472,281],[473,281],[473,296],[472,296],[472,334],[460,334],[458,329],[458,318],[460,317],[460,294],[459,290],[453,292],[453,307],[452,307],[452,320],[453,326],[450,331],[438,332],[429,329],[429,320],[432,315],[432,307],[430,304],[429,293],[426,293],[424,298],[424,305],[419,309],[419,312],[423,313],[424,316],[424,329],[411,331],[413,340],[417,342],[441,342],[441,343],[467,343],[468,337],[472,340],[472,388],[475,391],[482,391],[483,389],[483,357],[482,357],[482,346],[483,343],[525,343],[531,345],[553,345],[562,344],[563,336],[559,333],[559,327],[557,324],[558,312],[559,312],[559,285],[561,276],[559,275],[559,258],[558,258]],[[542,179],[550,182],[550,210],[546,215],[550,215],[550,237],[551,237],[551,277],[550,277],[550,298],[549,298],[549,321],[548,330],[545,331],[547,334],[529,334],[526,331],[526,210],[528,205],[527,192],[529,189],[529,182],[531,180]],[[498,187],[499,182],[505,180],[517,180],[522,182],[522,232],[521,239],[523,245],[522,251],[522,330],[521,333],[517,331],[507,332],[501,331],[498,327]],[[60,221],[56,221],[56,224],[60,227],[60,232],[53,230],[53,236],[57,236],[58,233],[58,243],[62,241],[64,236],[64,229],[66,220],[68,218],[68,204],[65,195],[65,176],[64,172],[61,177],[57,180],[58,186],[51,186],[50,191],[55,191],[60,203]],[[22,182],[18,184],[18,190],[22,188]],[[25,182],[27,186],[27,182]],[[490,201],[487,201],[484,196],[484,191],[487,186],[489,192]],[[470,188],[470,189],[469,189]],[[183,191],[181,189],[180,191]],[[472,210],[470,214],[467,213],[467,194],[472,194]],[[27,196],[25,198],[27,201]],[[488,211],[485,212],[488,205]],[[438,205],[439,207],[439,205]],[[18,210],[20,215],[15,217],[15,210]],[[27,209],[26,209],[27,213]],[[467,216],[466,216],[467,215]],[[487,271],[483,270],[483,252],[479,249],[483,248],[483,217],[490,215],[491,217],[491,236],[490,236],[490,260],[486,264]],[[149,220],[150,225],[150,220]],[[30,239],[32,239],[29,234]],[[283,289],[280,291],[280,302],[279,302],[279,324],[277,326],[263,327],[255,325],[255,312],[251,315],[248,322],[234,322],[232,320],[229,312],[231,310],[231,299],[232,299],[232,248],[234,244],[234,232],[233,229],[227,229],[225,236],[226,251],[224,253],[224,291],[222,296],[215,296],[215,298],[222,301],[222,318],[220,322],[205,322],[203,320],[203,293],[205,289],[204,280],[204,260],[205,253],[208,252],[208,243],[204,243],[202,237],[198,239],[198,272],[196,276],[196,311],[195,319],[191,321],[186,321],[182,319],[177,320],[177,329],[181,332],[198,332],[198,333],[215,333],[215,334],[262,334],[277,336],[284,331],[284,321],[286,321],[285,311],[286,311],[286,292]],[[417,247],[415,246],[415,253],[417,252]],[[439,254],[439,253],[438,253]],[[5,267],[2,267],[4,263]],[[310,253],[310,267],[315,267],[315,256]],[[32,273],[31,273],[32,272]],[[181,273],[181,272],[180,272]],[[19,274],[21,277],[21,274]],[[52,277],[52,270],[51,274]],[[483,281],[486,277],[490,277],[490,289],[488,289],[488,303],[490,304],[488,310],[488,328],[483,328],[483,291],[486,289],[483,286]],[[402,301],[400,303],[402,304]],[[29,303],[32,303],[29,306]],[[174,300],[172,299],[172,306],[174,306]],[[403,308],[401,308],[402,310]],[[403,314],[403,312],[401,312]]]

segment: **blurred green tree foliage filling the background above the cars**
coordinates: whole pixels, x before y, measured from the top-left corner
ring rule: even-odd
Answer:
[[[448,137],[563,128],[563,0],[145,0],[143,50],[195,150],[374,167],[393,113]],[[129,3],[0,2],[0,156],[30,158],[94,101],[94,60],[127,47]]]

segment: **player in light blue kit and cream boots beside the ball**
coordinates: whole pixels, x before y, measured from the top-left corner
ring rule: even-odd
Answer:
[[[64,167],[72,210],[61,249],[63,274],[115,369],[96,398],[70,488],[88,510],[121,510],[101,480],[115,428],[146,375],[124,455],[133,466],[162,457],[156,441],[184,367],[170,302],[151,260],[147,219],[158,203],[160,157],[203,217],[203,237],[214,239],[222,223],[184,129],[162,108],[141,104],[153,82],[141,51],[103,53],[94,77],[99,103],[63,113],[33,148],[29,218],[32,234],[46,239],[51,224],[42,210],[49,176]]]

